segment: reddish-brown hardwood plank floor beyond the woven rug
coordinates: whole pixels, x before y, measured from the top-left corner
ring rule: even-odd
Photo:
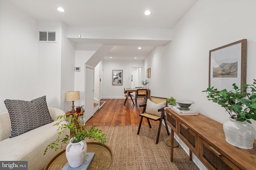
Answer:
[[[106,103],[100,107],[96,113],[85,123],[85,125],[95,126],[125,126],[125,125],[139,125],[140,116],[144,104],[143,99],[138,99],[138,107],[132,104],[132,100],[126,102],[124,99],[102,99]],[[135,103],[135,102],[134,102]],[[85,113],[86,116],[86,113]],[[159,125],[159,121],[151,121],[151,125]],[[143,119],[142,125],[148,125],[147,119]]]

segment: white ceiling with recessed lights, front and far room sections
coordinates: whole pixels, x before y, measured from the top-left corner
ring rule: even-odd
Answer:
[[[172,29],[197,0],[11,0],[37,20],[67,25]],[[65,12],[58,12],[58,7]],[[150,10],[149,16],[144,15]],[[156,46],[116,44],[104,59],[145,59]]]

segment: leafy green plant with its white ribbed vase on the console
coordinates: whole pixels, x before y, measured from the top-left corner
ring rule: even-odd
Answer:
[[[223,124],[226,141],[244,149],[253,148],[256,134],[255,129],[248,124],[252,123],[250,119],[256,120],[256,86],[254,84],[256,84],[255,79],[253,84],[244,84],[241,89],[234,83],[232,84],[234,90],[229,92],[226,89],[218,90],[214,87],[202,91],[208,94],[206,96],[208,100],[224,107],[230,115],[230,119]],[[238,137],[239,133],[242,134]],[[232,134],[236,137],[227,136]],[[247,136],[250,141],[244,142],[243,136]]]

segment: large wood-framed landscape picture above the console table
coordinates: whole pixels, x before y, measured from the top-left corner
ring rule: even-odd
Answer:
[[[246,83],[247,39],[209,51],[209,87],[232,90]]]

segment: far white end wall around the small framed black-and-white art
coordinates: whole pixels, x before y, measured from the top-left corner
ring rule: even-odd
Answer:
[[[132,67],[142,67],[144,61],[104,61],[103,98],[124,98],[124,88],[131,88]],[[112,85],[112,70],[123,70],[123,85]]]

